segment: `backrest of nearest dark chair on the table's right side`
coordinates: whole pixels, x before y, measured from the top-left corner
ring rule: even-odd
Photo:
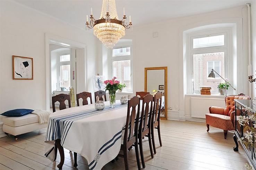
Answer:
[[[137,107],[137,113],[136,113]],[[135,96],[128,100],[127,106],[127,117],[125,125],[125,135],[123,138],[123,144],[127,146],[127,143],[135,142],[136,135],[138,134],[138,124],[139,124],[139,108],[140,108],[140,99]],[[133,140],[132,140],[133,139]]]

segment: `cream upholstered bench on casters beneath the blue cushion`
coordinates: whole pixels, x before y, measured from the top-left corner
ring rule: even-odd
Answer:
[[[18,141],[18,135],[47,127],[46,124],[39,124],[38,116],[28,114],[20,117],[2,116],[3,132],[7,135],[14,135]]]

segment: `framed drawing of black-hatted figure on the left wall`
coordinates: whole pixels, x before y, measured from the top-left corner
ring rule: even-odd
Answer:
[[[33,80],[33,58],[13,55],[12,79]]]

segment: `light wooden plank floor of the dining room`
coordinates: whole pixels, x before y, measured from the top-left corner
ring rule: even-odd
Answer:
[[[241,170],[247,163],[245,153],[240,146],[239,152],[233,151],[235,145],[233,132],[228,132],[225,140],[221,129],[210,127],[210,133],[207,133],[205,123],[163,120],[161,133],[163,146],[159,146],[155,135],[157,153],[153,159],[150,157],[148,141],[146,139],[144,141],[147,170]],[[59,155],[57,162],[51,162],[44,156],[44,136],[45,129],[41,129],[21,135],[18,142],[13,136],[0,138],[0,170],[58,169]],[[72,165],[73,156],[65,150],[63,169],[74,169]],[[137,169],[134,149],[129,152],[129,165],[130,169]],[[77,169],[88,169],[87,161],[80,155],[78,155]],[[124,169],[123,159],[110,162],[103,169]]]

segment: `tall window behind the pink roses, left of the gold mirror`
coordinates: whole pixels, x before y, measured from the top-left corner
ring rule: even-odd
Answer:
[[[121,83],[126,84],[123,91],[131,92],[132,86],[132,53],[131,46],[117,47],[112,49],[112,77],[117,77]]]

